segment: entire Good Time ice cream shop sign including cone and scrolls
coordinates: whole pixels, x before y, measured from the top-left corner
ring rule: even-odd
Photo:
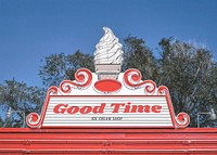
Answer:
[[[95,46],[95,73],[80,68],[75,80],[51,87],[40,116],[30,113],[29,128],[184,128],[190,118],[175,115],[169,91],[142,80],[138,69],[120,72],[122,44],[113,31]]]

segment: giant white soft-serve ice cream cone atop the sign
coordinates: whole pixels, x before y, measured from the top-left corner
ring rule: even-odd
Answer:
[[[117,79],[123,62],[123,46],[108,27],[103,29],[105,34],[95,46],[95,73],[99,79]]]

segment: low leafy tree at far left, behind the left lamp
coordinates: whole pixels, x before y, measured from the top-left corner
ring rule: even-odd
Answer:
[[[7,127],[22,127],[25,120],[23,114],[25,113],[26,116],[31,112],[40,113],[44,100],[43,89],[28,87],[25,82],[18,82],[15,79],[5,80],[3,85],[0,85],[0,94],[1,108],[4,112],[10,107],[14,111],[12,118],[10,120],[5,118],[3,122],[7,124]]]

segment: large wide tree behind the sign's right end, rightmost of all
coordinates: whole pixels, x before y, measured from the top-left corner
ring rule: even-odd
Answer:
[[[217,101],[212,53],[173,38],[163,38],[159,47],[159,85],[169,88],[176,113],[187,112],[191,116],[190,126],[195,126],[196,114],[208,112]]]

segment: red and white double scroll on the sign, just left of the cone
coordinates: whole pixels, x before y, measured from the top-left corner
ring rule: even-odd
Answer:
[[[89,69],[81,68],[78,69],[75,74],[75,81],[64,80],[60,85],[60,89],[63,93],[69,93],[72,91],[72,87],[76,87],[78,89],[87,88],[92,81],[92,74]]]

